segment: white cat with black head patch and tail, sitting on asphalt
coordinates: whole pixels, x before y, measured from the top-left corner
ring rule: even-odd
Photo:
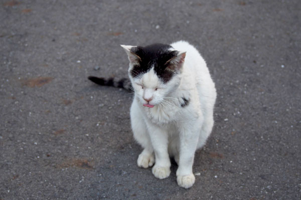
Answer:
[[[205,144],[214,123],[217,94],[206,62],[182,40],[170,45],[121,46],[129,59],[129,80],[89,79],[134,91],[131,127],[143,147],[137,165],[153,166],[155,177],[163,179],[170,175],[170,157],[174,157],[177,182],[189,188],[195,182],[195,151]]]

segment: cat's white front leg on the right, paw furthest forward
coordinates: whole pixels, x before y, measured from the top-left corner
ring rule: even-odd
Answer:
[[[180,127],[180,153],[177,169],[177,182],[181,187],[189,188],[195,182],[192,171],[194,154],[197,149],[201,121],[194,124],[181,124]]]

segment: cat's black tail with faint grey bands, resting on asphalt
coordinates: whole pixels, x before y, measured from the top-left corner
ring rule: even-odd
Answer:
[[[103,78],[103,77],[89,76],[88,79],[96,84],[120,87],[120,88],[126,89],[128,91],[133,91],[131,82],[128,78],[121,78],[118,80],[114,80],[113,77]]]

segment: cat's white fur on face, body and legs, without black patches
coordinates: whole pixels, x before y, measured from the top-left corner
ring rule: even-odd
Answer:
[[[135,90],[130,108],[131,126],[134,138],[144,148],[137,159],[138,166],[147,168],[155,163],[152,172],[162,179],[169,176],[170,157],[175,157],[179,165],[178,184],[189,188],[195,182],[192,170],[195,151],[205,144],[212,130],[216,89],[204,59],[194,46],[186,41],[171,45],[181,53],[186,52],[181,73],[166,84],[153,69],[136,78],[130,76]],[[181,107],[182,97],[189,99],[184,107]],[[155,106],[143,106],[147,103],[143,98],[152,98],[149,104]]]

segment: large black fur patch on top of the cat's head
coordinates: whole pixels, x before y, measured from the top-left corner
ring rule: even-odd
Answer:
[[[132,47],[130,51],[141,58],[137,60],[139,64],[133,66],[130,70],[130,75],[132,77],[139,76],[150,70],[154,66],[154,70],[161,81],[164,83],[168,82],[174,73],[177,73],[175,70],[167,68],[170,63],[167,63],[171,58],[178,55],[177,50],[170,51],[171,45],[168,44],[151,44],[148,46],[136,46]]]

